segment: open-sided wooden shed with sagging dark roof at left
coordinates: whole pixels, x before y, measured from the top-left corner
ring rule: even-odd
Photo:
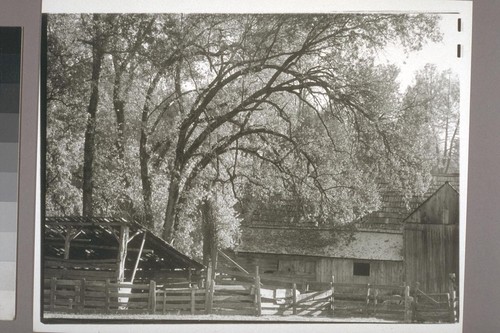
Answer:
[[[43,278],[196,283],[203,265],[134,221],[47,217]]]

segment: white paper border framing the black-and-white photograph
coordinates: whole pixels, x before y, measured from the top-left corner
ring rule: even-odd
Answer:
[[[383,324],[383,323],[110,323],[90,324],[87,321],[71,324],[45,324],[41,322],[40,302],[40,136],[38,137],[37,191],[35,213],[35,262],[33,330],[35,332],[440,332],[457,333],[463,326],[464,262],[467,216],[467,175],[469,147],[469,109],[470,109],[470,69],[472,36],[471,1],[394,1],[394,0],[43,0],[42,13],[440,13],[459,14],[462,21],[460,38],[461,59],[460,76],[460,261],[459,295],[460,319],[454,324]],[[40,110],[40,107],[39,107]],[[40,112],[39,112],[40,133]],[[311,326],[312,325],[312,326]]]

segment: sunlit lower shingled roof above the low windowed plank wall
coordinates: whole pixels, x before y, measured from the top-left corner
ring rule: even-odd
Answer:
[[[403,236],[395,232],[243,227],[242,239],[235,251],[401,261]]]

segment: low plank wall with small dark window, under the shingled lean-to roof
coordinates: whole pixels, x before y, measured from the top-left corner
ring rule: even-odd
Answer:
[[[262,273],[274,273],[307,278],[312,281],[401,284],[404,264],[402,261],[353,260],[262,253],[238,253],[234,256],[238,264],[253,272],[259,266]],[[354,262],[370,264],[370,276],[353,275]]]

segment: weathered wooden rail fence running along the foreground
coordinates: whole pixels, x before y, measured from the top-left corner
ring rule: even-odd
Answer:
[[[106,281],[44,280],[44,309],[74,313],[220,314],[380,318],[454,322],[455,293],[425,294],[418,286],[297,280],[224,271],[203,288]]]

